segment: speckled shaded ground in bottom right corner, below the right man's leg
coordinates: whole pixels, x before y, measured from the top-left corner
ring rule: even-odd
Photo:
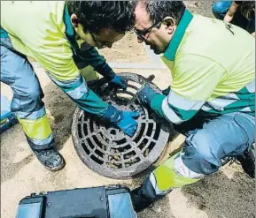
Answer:
[[[206,177],[196,184],[184,186],[182,193],[192,205],[206,212],[208,218],[253,218],[254,186],[255,180],[242,171],[236,171],[231,179],[220,171],[213,177]]]

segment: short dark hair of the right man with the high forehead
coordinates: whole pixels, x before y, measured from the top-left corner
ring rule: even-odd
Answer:
[[[178,25],[186,9],[182,1],[144,1],[144,4],[153,24],[166,17],[172,17]]]

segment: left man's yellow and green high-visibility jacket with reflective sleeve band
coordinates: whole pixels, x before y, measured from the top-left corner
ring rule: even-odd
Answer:
[[[105,114],[108,104],[86,86],[77,67],[82,62],[96,68],[105,64],[105,58],[94,47],[76,41],[65,1],[2,1],[0,34],[11,39],[12,49],[41,64],[81,109]]]

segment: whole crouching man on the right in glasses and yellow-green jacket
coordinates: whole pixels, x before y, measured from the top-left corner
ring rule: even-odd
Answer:
[[[163,54],[173,78],[163,94],[144,86],[139,99],[186,136],[182,151],[132,192],[136,211],[175,187],[212,175],[227,157],[255,177],[254,37],[193,15],[182,1],[139,1],[135,15],[138,42]]]

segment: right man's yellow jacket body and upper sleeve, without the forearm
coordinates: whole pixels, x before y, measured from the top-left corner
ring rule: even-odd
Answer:
[[[174,49],[176,42],[171,43]],[[202,109],[210,114],[243,111],[254,115],[255,42],[244,29],[194,15],[174,62],[165,56],[176,94],[206,101]]]

